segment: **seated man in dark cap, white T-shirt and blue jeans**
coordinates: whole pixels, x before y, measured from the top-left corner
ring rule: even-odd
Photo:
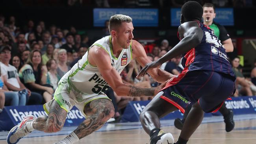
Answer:
[[[28,94],[26,88],[23,87],[23,89],[20,89],[18,85],[12,87],[18,75],[16,68],[14,66],[9,65],[9,61],[11,59],[11,49],[8,46],[5,46],[0,49],[0,53],[2,58],[0,62],[1,82],[4,82],[1,90],[4,92],[4,95],[6,96],[6,102],[11,106],[26,105],[26,95]],[[15,90],[15,88],[17,87],[19,88],[15,90],[16,92],[14,92],[9,91],[9,87],[13,88],[11,90]]]

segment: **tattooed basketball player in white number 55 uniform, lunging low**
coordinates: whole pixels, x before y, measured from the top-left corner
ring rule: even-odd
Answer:
[[[77,142],[102,127],[114,115],[113,104],[103,93],[109,86],[118,96],[157,94],[164,87],[165,81],[174,76],[160,68],[148,72],[156,81],[163,83],[156,89],[143,89],[122,83],[119,74],[132,59],[136,59],[141,66],[151,62],[143,46],[132,40],[133,30],[132,18],[126,15],[112,16],[109,19],[111,35],[96,41],[59,81],[53,100],[43,106],[48,116],[26,116],[11,129],[7,143],[16,144],[34,129],[46,133],[60,131],[67,113],[74,105],[85,115],[86,120],[57,144]]]

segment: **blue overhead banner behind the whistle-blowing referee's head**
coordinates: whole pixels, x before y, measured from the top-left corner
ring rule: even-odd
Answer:
[[[223,26],[234,26],[233,8],[216,8],[214,21]],[[171,8],[171,26],[180,26],[180,8]]]

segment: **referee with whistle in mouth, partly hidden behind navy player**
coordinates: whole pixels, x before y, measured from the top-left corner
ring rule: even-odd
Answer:
[[[214,35],[216,35],[219,40],[221,41],[221,44],[223,44],[224,48],[226,49],[226,52],[233,52],[234,46],[232,44],[231,38],[228,35],[228,32],[224,28],[224,26],[221,26],[220,24],[217,24],[213,21],[213,19],[216,16],[215,13],[215,6],[211,3],[205,3],[203,6],[203,22],[206,26],[209,26],[211,30],[213,30]],[[182,120],[180,118],[176,118],[174,120],[174,126],[178,129],[182,129],[184,122],[186,120],[187,114],[189,113],[189,110],[191,109],[191,105],[187,107],[184,116]],[[232,109],[227,109],[226,104],[223,103],[222,107],[219,109],[219,112],[223,115],[224,122],[226,124],[226,132],[230,132],[235,127],[235,122],[233,120],[233,111]]]

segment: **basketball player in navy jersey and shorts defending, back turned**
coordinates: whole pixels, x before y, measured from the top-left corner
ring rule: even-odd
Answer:
[[[205,113],[217,111],[234,93],[235,76],[223,45],[213,31],[201,23],[202,6],[195,1],[186,2],[181,9],[178,28],[180,42],[163,57],[148,63],[139,72],[144,76],[177,55],[183,54],[184,70],[171,78],[154,99],[143,109],[140,121],[150,135],[150,144],[173,144],[171,133],[160,129],[160,118],[180,109],[184,113],[192,104],[176,144],[186,144],[202,122]]]

